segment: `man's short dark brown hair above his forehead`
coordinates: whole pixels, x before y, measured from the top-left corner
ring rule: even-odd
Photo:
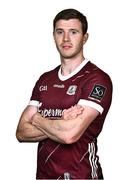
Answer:
[[[55,29],[56,22],[61,19],[65,19],[65,20],[78,19],[81,22],[83,34],[86,34],[88,29],[88,22],[87,22],[87,18],[81,12],[77,11],[76,9],[62,10],[55,16],[53,20],[53,29]]]

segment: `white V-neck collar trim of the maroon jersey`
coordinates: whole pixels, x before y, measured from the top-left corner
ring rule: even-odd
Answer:
[[[81,63],[73,72],[71,72],[71,73],[70,73],[69,75],[67,75],[67,76],[63,76],[63,75],[61,74],[61,67],[60,67],[60,69],[59,69],[59,71],[58,71],[58,77],[59,77],[59,79],[60,79],[61,81],[65,81],[65,80],[71,78],[72,76],[74,76],[75,74],[77,74],[88,62],[89,62],[88,59],[85,59],[84,61],[82,61],[82,63]]]

